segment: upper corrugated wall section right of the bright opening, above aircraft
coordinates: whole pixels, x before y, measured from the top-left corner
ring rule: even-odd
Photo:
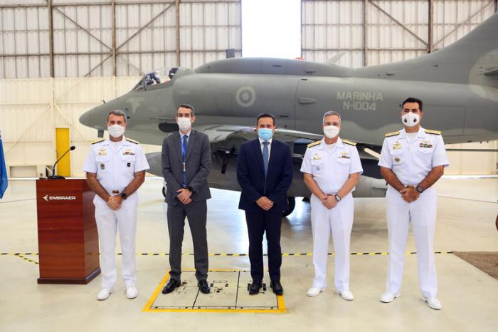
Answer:
[[[450,45],[497,11],[497,1],[302,0],[301,9],[302,57],[327,62],[341,53],[338,65],[358,68]]]

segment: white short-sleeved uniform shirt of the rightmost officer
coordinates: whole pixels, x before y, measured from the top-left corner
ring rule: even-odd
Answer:
[[[420,127],[411,142],[406,131],[384,138],[379,166],[393,170],[404,185],[417,186],[425,179],[433,167],[450,165],[443,137]]]

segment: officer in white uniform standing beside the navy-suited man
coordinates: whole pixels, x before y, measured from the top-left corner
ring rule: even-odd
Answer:
[[[354,186],[363,172],[356,143],[341,140],[341,116],[329,111],[323,118],[325,137],[308,145],[302,161],[304,183],[312,192],[314,279],[308,296],[324,291],[327,277],[329,237],[335,251],[336,291],[342,299],[352,301],[349,290],[349,242],[353,227]]]

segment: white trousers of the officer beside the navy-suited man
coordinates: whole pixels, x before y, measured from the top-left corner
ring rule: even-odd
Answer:
[[[349,242],[354,217],[353,195],[347,194],[333,209],[327,209],[318,197],[312,194],[311,208],[314,265],[312,287],[324,289],[327,286],[327,258],[332,231],[335,251],[334,284],[339,292],[349,291]]]

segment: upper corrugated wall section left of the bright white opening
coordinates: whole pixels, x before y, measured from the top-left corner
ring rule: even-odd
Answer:
[[[0,78],[50,77],[51,36],[54,77],[195,68],[242,51],[240,0],[181,0],[178,11],[174,0],[2,1],[0,18]]]

